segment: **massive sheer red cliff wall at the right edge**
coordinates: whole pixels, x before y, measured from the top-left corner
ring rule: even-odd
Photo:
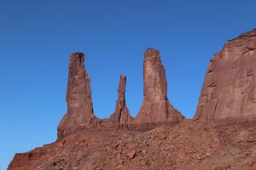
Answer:
[[[256,118],[256,30],[226,42],[211,59],[195,120]]]

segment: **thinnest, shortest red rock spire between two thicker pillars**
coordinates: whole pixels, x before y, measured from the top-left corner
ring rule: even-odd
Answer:
[[[116,101],[115,111],[110,116],[111,122],[119,124],[131,123],[132,117],[125,103],[125,87],[126,87],[126,76],[121,76],[119,80],[119,98]]]

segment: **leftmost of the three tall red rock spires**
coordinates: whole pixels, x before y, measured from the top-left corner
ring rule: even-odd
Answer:
[[[59,124],[58,133],[88,125],[96,118],[92,108],[90,77],[84,68],[84,54],[72,54],[68,68],[67,114]]]

